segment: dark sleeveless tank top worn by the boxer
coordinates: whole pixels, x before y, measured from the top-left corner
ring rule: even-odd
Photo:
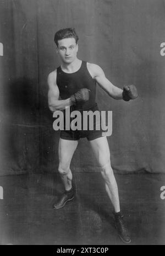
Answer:
[[[87,102],[78,103],[72,106],[73,110],[88,110],[96,106],[96,81],[87,70],[86,61],[82,61],[81,67],[74,73],[65,73],[61,66],[57,68],[56,80],[59,96],[61,99],[68,99],[81,88],[90,89],[90,98]]]

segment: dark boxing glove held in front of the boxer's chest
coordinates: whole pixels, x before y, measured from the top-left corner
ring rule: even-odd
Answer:
[[[89,92],[90,90],[87,88],[80,89],[70,97],[70,101],[72,104],[76,104],[78,102],[87,102],[87,100],[89,100]]]

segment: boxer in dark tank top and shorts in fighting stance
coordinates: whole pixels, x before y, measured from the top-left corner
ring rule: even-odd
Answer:
[[[48,75],[48,105],[52,112],[69,107],[73,110],[98,110],[95,102],[96,83],[101,86],[113,99],[129,101],[138,97],[134,85],[122,89],[114,86],[105,76],[100,66],[79,60],[78,35],[72,28],[57,31],[54,36],[57,54],[61,58],[61,66]],[[114,208],[114,221],[119,237],[125,243],[131,238],[120,211],[119,195],[116,179],[110,161],[110,152],[107,137],[102,130],[73,131],[62,130],[59,139],[59,167],[65,192],[53,205],[53,209],[61,209],[66,202],[74,199],[72,186],[72,172],[70,162],[81,137],[89,140],[92,150],[105,180],[105,188]]]

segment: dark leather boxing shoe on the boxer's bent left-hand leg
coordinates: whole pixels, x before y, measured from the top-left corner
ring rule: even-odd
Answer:
[[[69,191],[64,192],[62,196],[58,199],[58,201],[53,205],[53,210],[61,209],[65,206],[66,202],[74,199],[74,190],[73,188]]]

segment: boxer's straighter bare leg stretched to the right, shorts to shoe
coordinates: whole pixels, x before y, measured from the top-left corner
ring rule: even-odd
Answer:
[[[118,186],[111,167],[107,137],[96,138],[96,140],[90,141],[90,144],[94,150],[98,164],[101,167],[101,174],[105,180],[105,188],[114,207],[114,211],[119,212],[120,204]]]

